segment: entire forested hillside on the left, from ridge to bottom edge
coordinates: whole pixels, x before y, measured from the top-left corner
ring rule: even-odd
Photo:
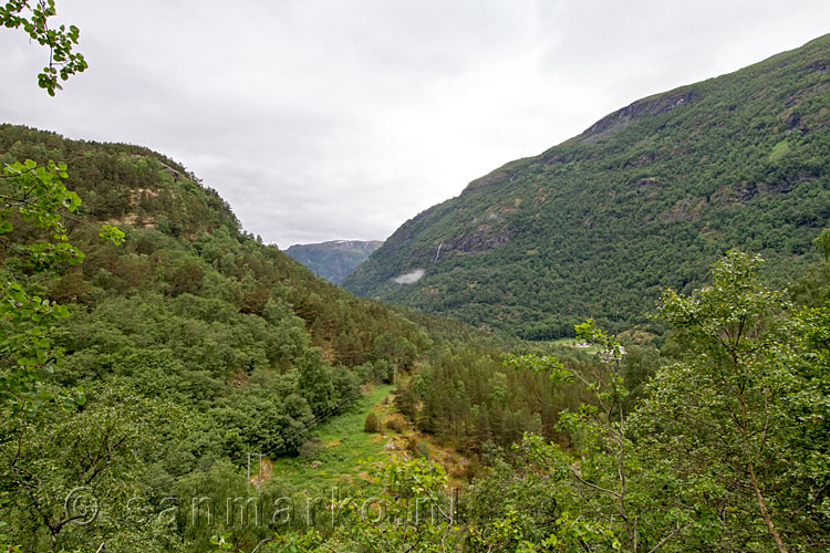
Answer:
[[[2,540],[24,551],[92,551],[100,532],[111,551],[183,551],[183,540],[200,543],[184,551],[206,551],[209,530],[147,525],[125,514],[124,498],[158,504],[228,482],[241,490],[228,493],[246,493],[248,452],[295,453],[362,385],[390,382],[395,365],[411,368],[456,326],[432,321],[427,332],[419,314],[411,321],[318,279],[241,231],[216,191],[146,148],[0,125],[0,167],[24,159],[40,167],[0,177],[0,276],[38,304],[68,306],[46,330],[38,313],[12,316],[24,311],[20,301],[0,317],[0,488],[11,498],[0,519]],[[65,184],[82,199],[62,218],[85,254],[54,272],[31,260],[48,259],[39,241],[61,238],[22,217],[51,200],[19,185],[50,159],[68,164]],[[102,222],[126,241],[101,240]],[[30,342],[42,353],[19,358]],[[12,374],[37,375],[38,386],[30,394]],[[19,405],[33,414],[18,415]],[[62,498],[79,486],[101,502],[95,529],[64,520]],[[272,489],[284,493],[281,486],[274,479]],[[169,532],[179,545],[162,543]]]

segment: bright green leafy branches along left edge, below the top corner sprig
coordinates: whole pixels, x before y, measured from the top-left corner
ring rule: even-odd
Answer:
[[[38,390],[43,373],[58,362],[49,340],[50,330],[68,316],[59,305],[24,285],[19,276],[51,272],[61,265],[79,264],[84,255],[69,242],[62,211],[77,210],[81,199],[66,188],[65,164],[49,161],[39,166],[31,159],[3,168],[0,178],[0,403],[31,413],[48,399]],[[22,243],[15,240],[15,225],[39,229],[45,240]],[[100,236],[121,243],[124,233],[105,225]]]

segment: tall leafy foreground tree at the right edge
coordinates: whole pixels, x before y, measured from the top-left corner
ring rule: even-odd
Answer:
[[[687,490],[705,543],[816,551],[828,545],[830,455],[813,431],[826,428],[828,366],[805,337],[828,321],[805,325],[808,312],[760,283],[761,261],[730,251],[712,284],[664,294],[685,355],[657,373],[635,425],[644,460],[667,461]]]

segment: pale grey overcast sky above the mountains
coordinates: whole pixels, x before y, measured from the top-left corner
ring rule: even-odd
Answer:
[[[286,248],[384,239],[603,115],[830,32],[828,0],[58,0],[56,98],[0,30],[0,122],[162,152]]]

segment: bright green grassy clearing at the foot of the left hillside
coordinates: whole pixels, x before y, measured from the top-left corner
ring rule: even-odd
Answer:
[[[374,386],[350,411],[321,424],[302,455],[273,459],[273,476],[298,490],[325,488],[357,474],[361,461],[392,455],[383,449],[388,440],[380,434],[364,432],[363,424],[372,410],[385,414],[388,406],[378,404],[393,388]]]

